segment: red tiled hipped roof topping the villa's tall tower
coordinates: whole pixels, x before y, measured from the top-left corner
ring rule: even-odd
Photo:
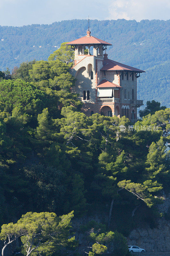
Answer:
[[[84,36],[81,38],[78,38],[76,40],[73,40],[69,43],[67,43],[68,45],[73,45],[73,44],[104,44],[104,45],[112,45],[109,44],[101,39],[98,39],[94,36]]]

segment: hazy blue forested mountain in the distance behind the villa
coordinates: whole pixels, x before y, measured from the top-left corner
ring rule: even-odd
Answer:
[[[145,70],[137,79],[138,99],[170,106],[170,20],[91,20],[91,35],[112,44],[108,58]],[[0,70],[23,61],[47,60],[63,42],[86,34],[87,20],[64,20],[50,25],[0,26]]]

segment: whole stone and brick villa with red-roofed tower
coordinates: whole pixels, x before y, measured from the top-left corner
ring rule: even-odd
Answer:
[[[72,74],[77,80],[72,91],[83,101],[82,111],[87,116],[126,116],[136,122],[137,107],[143,105],[137,100],[137,77],[145,71],[109,60],[103,51],[112,44],[91,36],[89,30],[67,44],[75,51]]]

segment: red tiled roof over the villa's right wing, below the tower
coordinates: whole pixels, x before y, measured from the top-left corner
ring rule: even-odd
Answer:
[[[127,66],[125,64],[116,62],[114,60],[105,59],[103,60],[103,68],[100,70],[129,70],[129,71],[136,71],[136,72],[145,72],[143,70],[140,70],[138,68],[133,68],[130,66]]]

